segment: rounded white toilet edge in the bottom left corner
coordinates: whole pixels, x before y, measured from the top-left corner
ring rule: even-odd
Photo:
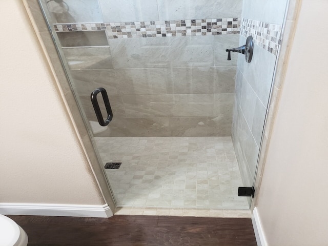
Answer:
[[[0,246],[26,246],[26,232],[12,219],[0,214]]]

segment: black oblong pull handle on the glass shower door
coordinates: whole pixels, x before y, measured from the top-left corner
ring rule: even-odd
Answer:
[[[103,118],[103,114],[101,114],[99,104],[98,104],[98,100],[97,100],[97,95],[99,94],[99,92],[101,92],[101,95],[103,96],[106,111],[107,111],[107,115],[108,115],[107,119],[105,121],[104,121],[104,118]],[[112,112],[111,105],[109,103],[109,99],[108,99],[108,95],[107,95],[106,90],[102,87],[99,87],[99,88],[95,89],[91,93],[91,103],[92,103],[94,112],[96,113],[99,125],[103,126],[103,127],[106,127],[109,124],[109,122],[111,122],[111,120],[113,118],[113,112]]]

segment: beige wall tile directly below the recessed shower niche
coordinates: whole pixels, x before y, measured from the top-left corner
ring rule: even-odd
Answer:
[[[109,47],[63,49],[70,69],[113,68]]]

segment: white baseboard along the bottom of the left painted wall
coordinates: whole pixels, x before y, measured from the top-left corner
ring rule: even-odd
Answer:
[[[42,215],[108,218],[113,212],[105,205],[70,205],[37,203],[0,203],[3,215]]]

